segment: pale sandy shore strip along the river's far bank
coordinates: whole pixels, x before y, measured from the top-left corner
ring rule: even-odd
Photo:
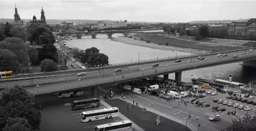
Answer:
[[[175,46],[166,46],[166,45],[158,45],[156,43],[146,43],[144,41],[140,40],[135,40],[133,38],[128,38],[128,37],[118,37],[118,38],[111,38],[112,41],[116,42],[122,42],[125,44],[129,45],[137,45],[137,46],[143,46],[143,47],[148,47],[148,48],[154,48],[154,49],[160,49],[160,50],[166,50],[166,51],[179,51],[179,52],[191,52],[191,49],[188,48],[180,48],[180,47],[175,47]],[[199,51],[199,50],[194,50],[193,53],[195,54],[202,54],[205,53],[205,51]]]

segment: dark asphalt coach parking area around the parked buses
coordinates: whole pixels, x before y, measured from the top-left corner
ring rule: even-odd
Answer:
[[[102,103],[100,107],[81,109],[72,111],[70,109],[70,102],[79,99],[88,99],[90,90],[84,90],[83,96],[70,98],[57,98],[54,95],[37,96],[36,100],[45,105],[45,109],[41,112],[41,131],[94,131],[94,127],[106,123],[113,123],[123,121],[122,118],[116,117],[106,120],[81,122],[81,112],[106,108]],[[100,95],[100,92],[98,93]],[[136,131],[133,129],[133,131]]]

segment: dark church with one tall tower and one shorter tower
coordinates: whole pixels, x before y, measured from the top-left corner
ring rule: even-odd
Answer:
[[[42,7],[42,11],[41,11],[41,19],[40,20],[37,20],[37,17],[36,16],[33,16],[33,20],[29,21],[28,22],[28,25],[33,27],[33,26],[36,26],[36,27],[43,27],[43,28],[46,28],[47,25],[46,25],[46,20],[45,20],[45,16],[44,16],[44,11],[43,11],[43,7]]]

